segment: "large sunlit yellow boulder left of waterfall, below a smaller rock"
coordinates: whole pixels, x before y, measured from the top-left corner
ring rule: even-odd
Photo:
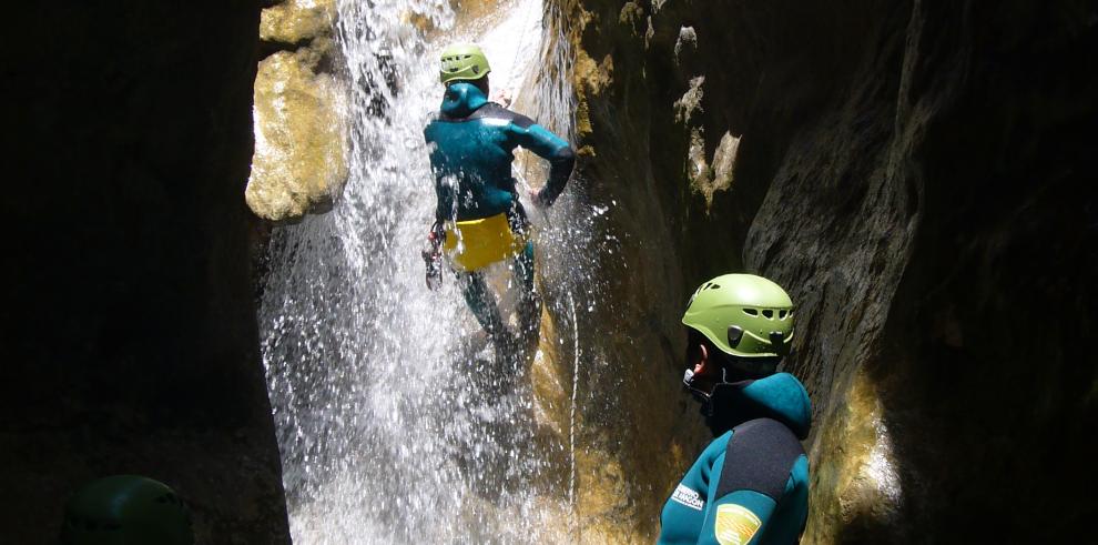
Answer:
[[[316,74],[318,54],[281,51],[255,78],[255,155],[245,199],[256,215],[295,221],[328,209],[347,180],[346,92]]]

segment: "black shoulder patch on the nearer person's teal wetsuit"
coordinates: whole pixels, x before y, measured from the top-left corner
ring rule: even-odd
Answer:
[[[803,454],[804,447],[785,424],[772,418],[744,422],[732,428],[716,497],[749,490],[777,503],[793,464]]]

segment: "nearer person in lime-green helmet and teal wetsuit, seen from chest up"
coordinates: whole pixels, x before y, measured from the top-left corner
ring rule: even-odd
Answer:
[[[812,405],[777,373],[793,341],[793,303],[774,282],[725,274],[702,284],[682,316],[683,384],[716,436],[663,505],[660,544],[786,544],[809,513]]]

